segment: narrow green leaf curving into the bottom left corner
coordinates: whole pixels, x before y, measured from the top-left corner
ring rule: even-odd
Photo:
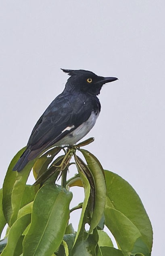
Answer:
[[[17,219],[15,223],[11,226],[8,232],[8,241],[7,245],[4,248],[1,256],[13,256],[15,252],[15,248],[17,246],[17,242],[21,237],[23,231],[30,223],[31,215],[27,214],[22,216],[21,218]]]

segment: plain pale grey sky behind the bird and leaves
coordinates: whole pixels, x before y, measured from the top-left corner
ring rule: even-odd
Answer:
[[[165,2],[1,0],[0,15],[0,185],[63,90],[68,77],[60,68],[116,76],[101,91],[87,148],[138,192],[154,230],[152,255],[163,255]]]

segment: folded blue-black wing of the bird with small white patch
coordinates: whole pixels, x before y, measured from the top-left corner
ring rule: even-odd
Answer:
[[[84,108],[84,102],[78,98],[69,101],[68,97],[57,97],[33,128],[27,147],[31,151],[50,147],[85,122],[91,112],[90,101]]]

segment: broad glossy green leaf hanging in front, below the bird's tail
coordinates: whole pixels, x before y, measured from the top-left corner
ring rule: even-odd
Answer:
[[[31,226],[23,242],[23,256],[50,256],[60,246],[69,220],[72,193],[45,184],[33,203]]]

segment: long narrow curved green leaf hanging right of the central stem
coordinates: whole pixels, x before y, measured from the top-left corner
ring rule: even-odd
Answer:
[[[94,230],[94,228],[96,228],[96,226],[100,222],[100,219],[102,218],[102,215],[104,213],[106,185],[104,179],[104,171],[98,159],[85,149],[80,149],[80,151],[86,159],[95,183],[95,204],[89,230],[89,233],[91,233],[92,230]]]

